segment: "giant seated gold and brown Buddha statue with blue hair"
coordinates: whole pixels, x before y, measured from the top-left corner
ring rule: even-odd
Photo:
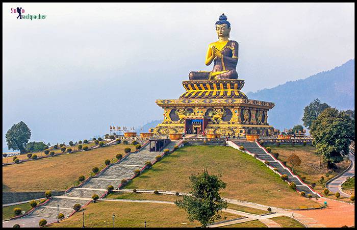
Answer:
[[[214,63],[212,71],[192,71],[190,80],[219,80],[238,79],[236,71],[238,63],[238,42],[228,40],[231,32],[231,23],[227,21],[224,13],[216,21],[218,41],[208,46],[206,65]]]

